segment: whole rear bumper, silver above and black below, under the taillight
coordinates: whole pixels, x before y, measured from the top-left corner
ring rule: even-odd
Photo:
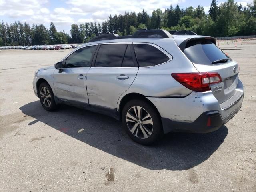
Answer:
[[[239,111],[244,98],[240,81],[236,92],[237,94],[222,104],[219,104],[211,91],[192,92],[184,98],[147,98],[160,113],[164,133],[208,133],[226,124]]]

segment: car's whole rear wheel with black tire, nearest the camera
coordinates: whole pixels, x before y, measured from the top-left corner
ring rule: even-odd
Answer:
[[[137,110],[138,113],[138,108],[141,108],[140,118],[137,118],[137,121],[133,122],[134,119],[132,118],[134,118],[136,114],[134,115],[132,112]],[[128,111],[130,115],[132,114],[132,118],[127,117]],[[150,117],[146,118],[148,115]],[[128,119],[128,121],[126,119]],[[152,124],[147,124],[146,120],[147,122],[148,120],[152,120]],[[143,124],[143,122],[146,124]],[[136,124],[138,124],[138,126]],[[154,108],[152,104],[145,100],[130,100],[125,104],[122,110],[122,125],[130,138],[139,144],[150,145],[160,140],[163,136],[163,128],[160,115],[156,111],[156,108]],[[132,133],[133,130],[134,132]]]

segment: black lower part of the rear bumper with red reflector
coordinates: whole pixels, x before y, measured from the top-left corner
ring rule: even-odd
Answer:
[[[162,118],[164,132],[193,132],[208,133],[218,130],[240,110],[243,97],[236,105],[236,109],[225,118],[222,118],[219,111],[208,111],[202,113],[194,122],[178,122],[168,118]]]

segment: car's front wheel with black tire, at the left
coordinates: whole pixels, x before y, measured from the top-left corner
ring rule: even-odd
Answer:
[[[47,91],[45,91],[45,90],[47,90]],[[44,94],[45,92],[46,92],[47,96],[49,96],[49,94],[50,94],[50,97],[48,97],[47,99],[44,99],[45,97],[43,96],[43,95],[46,95],[46,94]],[[57,109],[57,104],[55,103],[55,100],[54,100],[54,94],[52,92],[52,88],[50,87],[50,85],[48,83],[42,82],[39,85],[38,96],[40,99],[40,103],[45,110],[54,111]]]

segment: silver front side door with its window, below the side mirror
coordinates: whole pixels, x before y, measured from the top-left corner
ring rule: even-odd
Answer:
[[[62,72],[54,71],[54,90],[56,96],[63,102],[88,104],[86,76],[96,47],[86,46],[76,50],[63,61]]]

